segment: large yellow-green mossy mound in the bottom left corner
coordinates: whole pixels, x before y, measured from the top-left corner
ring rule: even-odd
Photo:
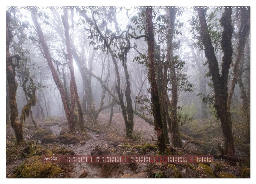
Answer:
[[[42,163],[41,156],[33,156],[20,164],[11,178],[54,178],[63,170],[52,163]]]

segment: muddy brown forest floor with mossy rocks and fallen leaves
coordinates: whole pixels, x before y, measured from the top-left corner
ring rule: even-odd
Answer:
[[[36,119],[39,130],[30,120],[23,128],[26,142],[15,146],[15,137],[10,124],[6,128],[6,177],[87,177],[87,178],[145,178],[145,177],[250,177],[250,169],[244,163],[228,165],[222,159],[207,164],[167,163],[111,163],[111,164],[49,164],[41,163],[42,155],[156,155],[154,127],[143,119],[134,117],[133,139],[125,138],[122,114],[114,114],[111,126],[107,126],[109,114],[100,114],[96,125],[85,119],[86,133],[68,133],[67,120],[63,118]],[[76,127],[79,130],[79,127]],[[171,140],[171,137],[170,137]],[[188,144],[184,155],[193,155],[191,150],[202,150],[200,145]],[[210,166],[210,167],[209,167]]]

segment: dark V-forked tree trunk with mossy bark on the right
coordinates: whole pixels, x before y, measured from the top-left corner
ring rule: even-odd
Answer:
[[[207,23],[205,18],[205,10],[198,9],[198,16],[200,21],[200,29],[202,42],[204,44],[205,56],[209,62],[209,71],[212,76],[212,82],[215,93],[215,109],[217,110],[218,118],[221,121],[221,128],[225,140],[225,154],[229,156],[235,155],[234,138],[232,135],[232,121],[230,113],[228,113],[228,71],[232,61],[232,44],[231,38],[233,27],[231,25],[232,9],[225,8],[221,18],[221,25],[223,27],[221,48],[223,50],[223,58],[221,64],[221,75],[219,73],[219,65],[214,54],[214,47],[211,43],[211,38],[207,30]]]

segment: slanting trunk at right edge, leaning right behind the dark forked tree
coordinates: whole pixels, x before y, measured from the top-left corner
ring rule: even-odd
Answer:
[[[239,66],[241,63],[242,56],[244,54],[246,37],[250,30],[250,8],[247,11],[240,10],[240,14],[241,14],[241,20],[240,20],[240,28],[238,31],[238,45],[237,45],[238,54],[237,54],[237,58],[236,58],[234,69],[233,69],[234,76],[231,81],[230,91],[229,91],[229,95],[228,95],[228,102],[227,102],[229,111],[230,111],[232,95],[233,95],[234,89],[235,89],[235,84],[238,80]]]

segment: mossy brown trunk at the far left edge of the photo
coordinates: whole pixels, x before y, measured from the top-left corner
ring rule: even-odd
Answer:
[[[12,64],[12,58],[9,52],[10,40],[9,33],[11,31],[7,27],[6,23],[6,78],[8,83],[8,92],[9,92],[9,105],[10,105],[10,121],[12,128],[15,133],[17,145],[21,144],[24,139],[22,135],[22,123],[18,121],[18,109],[16,102],[16,91],[18,84],[15,81],[15,65]]]

